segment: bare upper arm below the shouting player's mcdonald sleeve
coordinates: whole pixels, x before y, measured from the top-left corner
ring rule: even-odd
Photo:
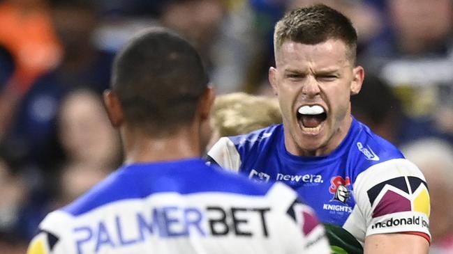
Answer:
[[[428,241],[418,235],[378,234],[366,237],[364,254],[427,254],[428,248]]]

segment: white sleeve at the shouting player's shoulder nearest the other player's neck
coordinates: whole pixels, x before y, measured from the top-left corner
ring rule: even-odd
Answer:
[[[237,152],[236,146],[232,143],[230,138],[220,138],[207,154],[211,159],[216,161],[218,166],[235,172],[239,171],[241,156],[239,155],[239,152]]]

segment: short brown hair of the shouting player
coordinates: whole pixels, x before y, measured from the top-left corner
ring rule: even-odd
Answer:
[[[348,56],[355,63],[357,32],[352,22],[336,10],[316,4],[292,10],[277,22],[274,49],[279,49],[286,40],[315,45],[329,39],[342,40],[349,49]]]

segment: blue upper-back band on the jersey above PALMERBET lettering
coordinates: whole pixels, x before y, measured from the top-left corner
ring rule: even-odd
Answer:
[[[117,200],[146,198],[151,194],[164,192],[221,192],[265,196],[271,186],[272,184],[251,182],[241,175],[207,166],[202,159],[132,164],[119,168],[63,210],[78,216]]]

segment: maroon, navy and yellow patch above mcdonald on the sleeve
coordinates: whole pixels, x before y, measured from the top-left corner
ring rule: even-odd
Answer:
[[[396,212],[421,212],[429,217],[429,193],[419,177],[405,176],[381,182],[367,191],[372,217]]]

